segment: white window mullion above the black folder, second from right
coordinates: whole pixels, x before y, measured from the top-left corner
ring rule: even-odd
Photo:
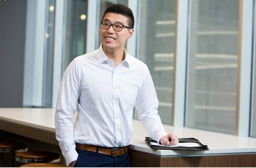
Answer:
[[[185,116],[188,1],[176,1],[175,71],[173,71],[173,126],[183,127]]]

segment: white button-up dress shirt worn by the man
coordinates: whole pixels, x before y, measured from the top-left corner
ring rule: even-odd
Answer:
[[[159,142],[167,135],[145,63],[125,51],[125,60],[115,66],[101,46],[75,58],[59,85],[55,113],[56,139],[67,165],[77,159],[75,142],[101,147],[129,145],[134,107],[152,139]]]

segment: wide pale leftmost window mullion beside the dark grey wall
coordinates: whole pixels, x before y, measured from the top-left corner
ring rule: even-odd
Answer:
[[[23,105],[42,107],[46,1],[27,4]]]

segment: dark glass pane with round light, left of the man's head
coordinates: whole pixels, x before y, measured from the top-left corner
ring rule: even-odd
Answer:
[[[66,1],[66,33],[62,72],[79,55],[86,53],[87,1]]]

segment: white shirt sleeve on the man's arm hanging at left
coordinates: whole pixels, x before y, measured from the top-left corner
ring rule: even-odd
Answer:
[[[56,139],[67,165],[78,157],[74,142],[73,116],[78,106],[80,88],[79,68],[73,60],[60,82],[55,112]]]

